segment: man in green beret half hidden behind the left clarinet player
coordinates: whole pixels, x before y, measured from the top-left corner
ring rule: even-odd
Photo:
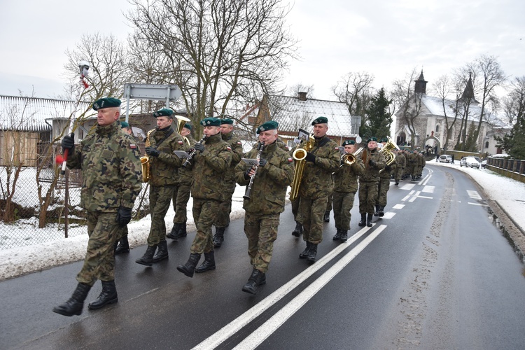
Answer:
[[[224,202],[221,202],[217,213],[215,225],[214,246],[221,247],[224,241],[224,231],[230,225],[230,213],[232,212],[232,196],[235,192],[235,166],[242,158],[242,144],[238,137],[233,134],[233,120],[221,119],[221,134],[223,140],[228,142],[232,148],[232,162],[225,174]]]

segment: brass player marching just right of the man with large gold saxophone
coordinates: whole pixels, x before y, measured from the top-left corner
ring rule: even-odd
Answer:
[[[342,146],[345,154],[356,152],[356,141],[344,141]],[[363,172],[365,172],[363,160],[356,157],[356,161],[352,165],[342,162],[339,169],[334,173],[333,209],[335,228],[337,229],[337,233],[333,237],[334,241],[345,242],[348,239],[350,211],[353,208],[353,200],[358,189],[357,179]]]

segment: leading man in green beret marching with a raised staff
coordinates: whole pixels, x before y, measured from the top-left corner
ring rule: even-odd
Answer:
[[[100,309],[118,302],[115,286],[113,246],[122,228],[132,218],[135,198],[142,188],[139,148],[120,131],[120,100],[112,97],[93,104],[97,127],[75,147],[73,137],[62,139],[62,149],[69,150],[67,167],[81,169],[80,205],[87,215],[87,252],[76,279],[71,298],[52,311],[64,316],[80,315],[84,300],[95,281],[102,281],[102,293],[90,302],[90,309]]]

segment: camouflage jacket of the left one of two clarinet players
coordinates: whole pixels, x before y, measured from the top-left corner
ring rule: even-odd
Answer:
[[[193,163],[191,196],[202,200],[223,202],[225,174],[232,162],[232,148],[221,139],[221,133],[204,141],[204,152],[197,153]]]

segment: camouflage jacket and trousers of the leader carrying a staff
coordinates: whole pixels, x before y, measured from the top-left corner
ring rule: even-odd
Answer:
[[[133,208],[142,188],[139,148],[120,123],[97,126],[67,160],[82,169],[80,206],[87,211],[87,252],[76,279],[93,286],[97,279],[113,281],[113,244],[122,235],[117,223],[120,206]]]

